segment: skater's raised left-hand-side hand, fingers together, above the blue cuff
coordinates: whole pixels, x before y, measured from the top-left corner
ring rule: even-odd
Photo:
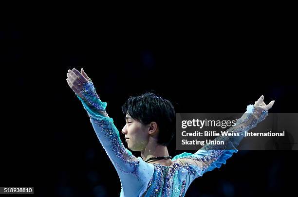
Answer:
[[[73,70],[68,70],[68,73],[66,75],[66,81],[69,87],[79,96],[81,94],[81,90],[83,90],[82,84],[91,81],[91,79],[84,72],[83,68],[81,69],[81,72],[78,72],[75,68]]]

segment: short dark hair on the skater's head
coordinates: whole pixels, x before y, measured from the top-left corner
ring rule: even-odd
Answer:
[[[170,101],[154,93],[130,97],[123,104],[122,112],[143,125],[156,122],[159,126],[158,144],[167,146],[175,135],[175,109]]]

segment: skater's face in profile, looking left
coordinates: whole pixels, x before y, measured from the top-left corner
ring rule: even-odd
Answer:
[[[149,140],[148,128],[149,126],[143,125],[137,120],[126,114],[126,125],[122,129],[122,133],[125,135],[126,143],[130,150],[142,151]]]

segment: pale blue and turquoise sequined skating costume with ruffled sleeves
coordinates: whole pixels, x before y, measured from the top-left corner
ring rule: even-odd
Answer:
[[[194,179],[202,177],[205,172],[220,168],[233,153],[238,152],[236,147],[243,135],[218,137],[218,140],[224,140],[224,144],[229,148],[206,144],[194,154],[176,155],[171,166],[146,163],[124,147],[113,119],[103,115],[106,113],[107,103],[101,102],[93,83],[88,82],[83,86],[82,95],[77,97],[86,109],[99,142],[119,175],[122,186],[120,197],[183,197]],[[268,114],[268,111],[262,111],[258,117],[253,115],[253,112],[254,107],[247,106],[246,113],[228,131],[248,131]]]

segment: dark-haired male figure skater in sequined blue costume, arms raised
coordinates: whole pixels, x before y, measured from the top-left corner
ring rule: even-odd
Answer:
[[[238,152],[239,137],[221,137],[226,148],[206,144],[200,150],[171,158],[167,145],[175,131],[175,110],[172,104],[154,93],[129,98],[122,106],[126,125],[122,128],[125,142],[120,140],[113,119],[106,112],[107,103],[97,95],[93,82],[83,69],[68,70],[67,83],[86,109],[93,129],[115,167],[121,181],[120,197],[183,197],[190,183],[205,172],[220,168]],[[265,119],[274,101],[268,105],[261,96],[237,120],[228,132],[244,133]],[[221,145],[222,146],[222,145]]]

